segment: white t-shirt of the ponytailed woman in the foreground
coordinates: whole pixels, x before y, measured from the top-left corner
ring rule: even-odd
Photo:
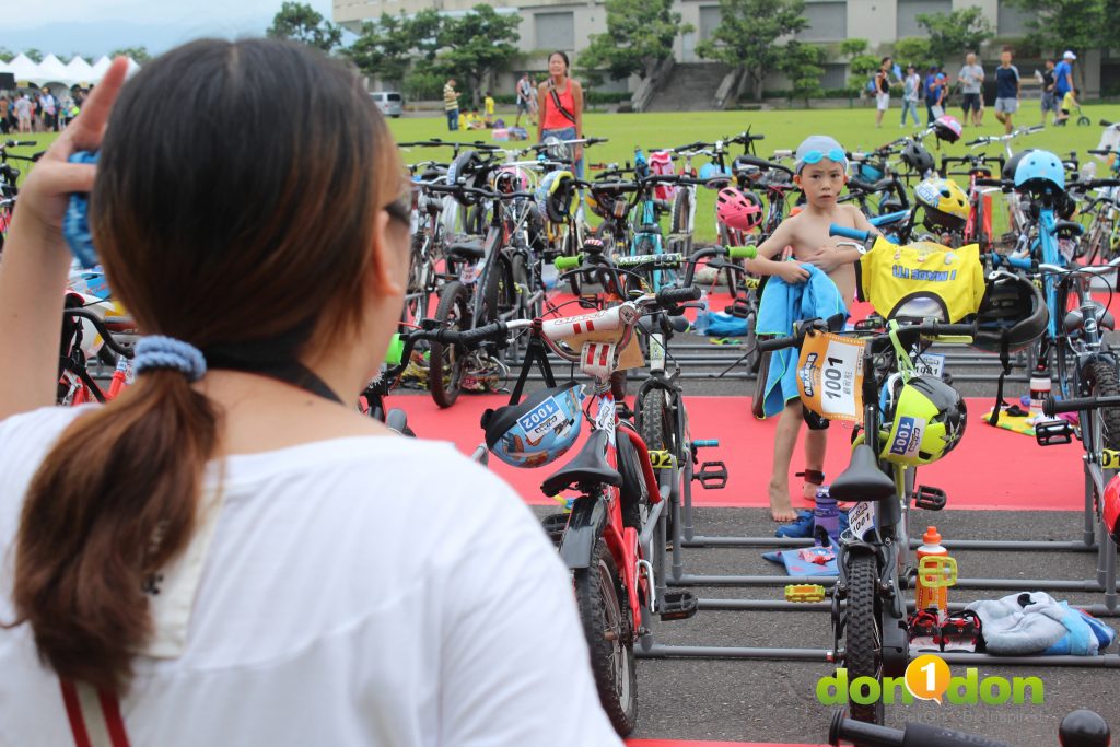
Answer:
[[[74,415],[0,422],[2,620],[27,485]],[[161,608],[162,657],[134,660],[121,702],[133,745],[620,746],[556,551],[450,445],[233,456],[221,495],[185,553],[197,562],[162,590],[193,604]],[[74,744],[27,625],[0,629],[0,744]]]

